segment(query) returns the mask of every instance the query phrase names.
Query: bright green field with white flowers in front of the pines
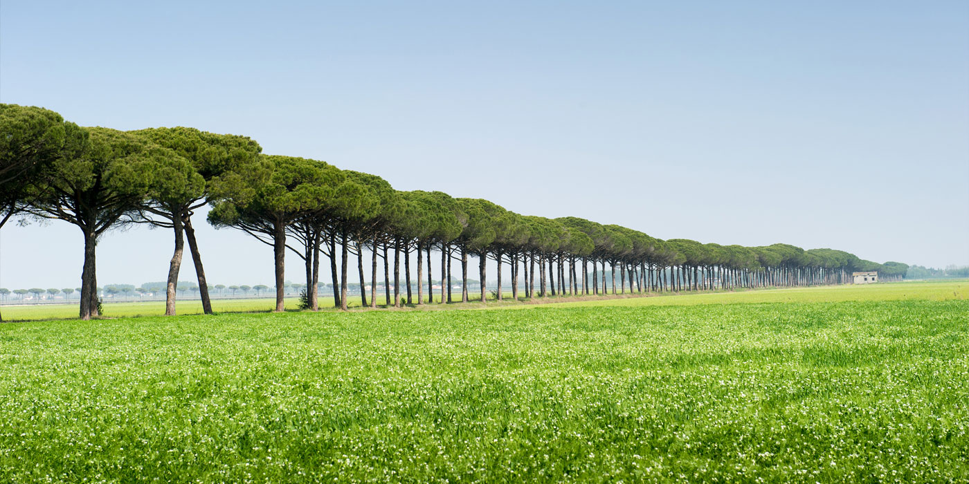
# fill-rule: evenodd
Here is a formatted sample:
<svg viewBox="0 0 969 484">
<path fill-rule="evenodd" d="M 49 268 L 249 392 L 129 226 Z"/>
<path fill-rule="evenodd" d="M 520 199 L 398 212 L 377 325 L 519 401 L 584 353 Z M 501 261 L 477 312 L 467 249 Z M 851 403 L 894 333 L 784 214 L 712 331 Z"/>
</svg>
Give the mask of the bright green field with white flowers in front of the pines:
<svg viewBox="0 0 969 484">
<path fill-rule="evenodd" d="M 969 482 L 964 287 L 2 324 L 0 482 Z"/>
</svg>

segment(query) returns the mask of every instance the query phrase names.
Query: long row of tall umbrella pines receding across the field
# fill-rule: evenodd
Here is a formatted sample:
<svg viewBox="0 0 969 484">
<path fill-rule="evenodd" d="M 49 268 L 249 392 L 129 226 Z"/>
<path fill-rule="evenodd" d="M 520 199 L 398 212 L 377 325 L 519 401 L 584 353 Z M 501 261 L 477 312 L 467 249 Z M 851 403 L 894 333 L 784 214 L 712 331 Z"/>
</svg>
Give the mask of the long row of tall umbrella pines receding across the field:
<svg viewBox="0 0 969 484">
<path fill-rule="evenodd" d="M 44 108 L 0 105 L 0 133 L 0 227 L 18 212 L 78 227 L 84 239 L 79 290 L 79 316 L 84 319 L 98 316 L 97 242 L 110 228 L 125 224 L 172 230 L 166 315 L 175 314 L 186 243 L 203 310 L 210 314 L 192 220 L 205 204 L 211 205 L 208 222 L 213 226 L 241 230 L 272 248 L 276 311 L 284 309 L 288 252 L 304 262 L 312 310 L 319 304 L 322 256 L 328 257 L 330 278 L 337 283 L 333 299 L 342 309 L 348 304 L 351 258 L 356 259 L 361 283 L 377 281 L 383 269 L 384 304 L 394 307 L 435 300 L 433 287 L 422 284 L 433 278 L 434 260 L 439 260 L 439 278 L 447 281 L 442 302 L 469 301 L 471 257 L 478 259 L 482 301 L 489 260 L 497 264 L 498 300 L 505 297 L 504 278 L 511 280 L 511 296 L 517 299 L 615 294 L 627 288 L 647 292 L 843 284 L 857 270 L 875 270 L 882 280 L 893 280 L 907 267 L 788 244 L 742 247 L 660 240 L 576 217 L 520 215 L 480 198 L 400 192 L 376 175 L 265 155 L 248 137 L 192 128 L 82 128 Z M 366 262 L 365 251 L 371 255 Z M 416 290 L 411 284 L 415 279 Z M 452 293 L 453 279 L 461 281 L 460 294 Z M 369 294 L 361 291 L 362 306 L 376 307 L 376 289 L 371 284 Z"/>
</svg>

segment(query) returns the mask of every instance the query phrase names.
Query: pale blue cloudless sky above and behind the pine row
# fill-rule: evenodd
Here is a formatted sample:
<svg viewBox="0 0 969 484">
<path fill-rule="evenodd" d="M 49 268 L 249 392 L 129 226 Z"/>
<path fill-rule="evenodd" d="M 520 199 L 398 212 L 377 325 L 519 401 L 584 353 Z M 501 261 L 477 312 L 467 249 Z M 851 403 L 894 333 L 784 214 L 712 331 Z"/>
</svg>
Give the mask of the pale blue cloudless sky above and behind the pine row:
<svg viewBox="0 0 969 484">
<path fill-rule="evenodd" d="M 662 239 L 969 264 L 961 0 L 4 0 L 0 102 Z M 271 249 L 203 215 L 209 283 L 271 285 Z M 98 282 L 170 257 L 170 231 L 109 232 Z M 78 287 L 81 261 L 67 223 L 0 230 L 0 287 Z"/>
</svg>

